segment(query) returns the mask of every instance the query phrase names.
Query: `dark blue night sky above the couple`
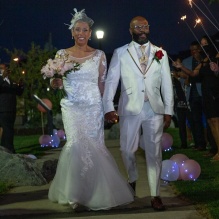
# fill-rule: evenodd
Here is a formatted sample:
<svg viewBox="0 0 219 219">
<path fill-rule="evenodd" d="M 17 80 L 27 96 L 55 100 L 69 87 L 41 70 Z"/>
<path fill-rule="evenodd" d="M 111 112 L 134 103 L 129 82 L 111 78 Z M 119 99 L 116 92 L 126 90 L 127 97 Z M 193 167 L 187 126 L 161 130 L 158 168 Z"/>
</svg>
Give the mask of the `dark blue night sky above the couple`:
<svg viewBox="0 0 219 219">
<path fill-rule="evenodd" d="M 89 41 L 92 47 L 98 48 L 97 29 L 105 32 L 102 49 L 107 54 L 129 43 L 130 20 L 141 15 L 149 21 L 150 41 L 162 46 L 171 56 L 189 48 L 195 40 L 192 32 L 198 39 L 206 35 L 201 25 L 194 28 L 197 19 L 194 11 L 202 19 L 207 34 L 218 32 L 219 3 L 209 5 L 207 0 L 194 0 L 194 3 L 202 12 L 194 5 L 192 10 L 187 0 L 0 0 L 0 59 L 2 62 L 9 59 L 2 48 L 27 51 L 31 42 L 43 47 L 49 34 L 57 49 L 72 46 L 70 30 L 64 23 L 70 23 L 73 8 L 85 9 L 95 22 Z M 192 32 L 180 20 L 183 15 L 187 15 Z"/>
</svg>

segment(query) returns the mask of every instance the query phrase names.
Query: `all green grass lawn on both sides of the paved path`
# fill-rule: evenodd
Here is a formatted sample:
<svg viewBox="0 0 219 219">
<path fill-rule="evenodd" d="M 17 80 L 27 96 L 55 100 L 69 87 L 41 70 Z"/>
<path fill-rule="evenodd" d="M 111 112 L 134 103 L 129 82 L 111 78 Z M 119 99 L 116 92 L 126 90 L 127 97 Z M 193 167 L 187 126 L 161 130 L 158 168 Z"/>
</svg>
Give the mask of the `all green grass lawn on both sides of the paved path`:
<svg viewBox="0 0 219 219">
<path fill-rule="evenodd" d="M 180 149 L 180 140 L 177 128 L 169 128 L 166 132 L 173 136 L 171 151 L 163 152 L 163 160 L 170 159 L 174 154 L 185 154 L 201 166 L 201 174 L 196 181 L 175 181 L 171 185 L 176 193 L 194 203 L 197 209 L 209 219 L 219 218 L 219 162 L 211 162 L 203 156 L 206 152 L 195 151 L 192 148 Z M 40 157 L 45 150 L 39 145 L 39 135 L 15 136 L 17 153 L 34 154 Z M 7 192 L 10 185 L 0 182 L 0 194 Z"/>
</svg>

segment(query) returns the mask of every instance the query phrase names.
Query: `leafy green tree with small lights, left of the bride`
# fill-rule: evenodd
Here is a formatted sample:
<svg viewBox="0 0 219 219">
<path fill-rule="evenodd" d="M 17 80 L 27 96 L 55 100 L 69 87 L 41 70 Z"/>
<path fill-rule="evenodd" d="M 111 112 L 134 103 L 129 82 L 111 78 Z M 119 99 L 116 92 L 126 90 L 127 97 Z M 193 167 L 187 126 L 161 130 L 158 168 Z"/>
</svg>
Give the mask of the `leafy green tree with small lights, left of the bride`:
<svg viewBox="0 0 219 219">
<path fill-rule="evenodd" d="M 23 50 L 14 49 L 6 52 L 11 57 L 10 69 L 11 76 L 14 81 L 23 79 L 25 89 L 22 97 L 18 98 L 18 102 L 23 104 L 21 111 L 18 113 L 23 114 L 26 118 L 28 126 L 40 126 L 40 112 L 37 109 L 37 103 L 33 99 L 36 94 L 39 98 L 47 98 L 53 103 L 53 114 L 60 112 L 60 104 L 54 90 L 49 89 L 49 79 L 44 80 L 40 70 L 46 64 L 49 58 L 54 58 L 56 49 L 41 49 L 40 46 L 31 44 L 30 50 L 25 53 Z M 18 57 L 18 61 L 13 59 Z"/>
</svg>

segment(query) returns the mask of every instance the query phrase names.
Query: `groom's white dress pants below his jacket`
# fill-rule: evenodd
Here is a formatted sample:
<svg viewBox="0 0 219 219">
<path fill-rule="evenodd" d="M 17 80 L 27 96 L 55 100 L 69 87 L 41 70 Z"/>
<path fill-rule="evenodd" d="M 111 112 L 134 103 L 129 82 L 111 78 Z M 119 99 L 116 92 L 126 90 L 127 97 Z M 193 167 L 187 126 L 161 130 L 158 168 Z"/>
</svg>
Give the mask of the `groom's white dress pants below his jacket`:
<svg viewBox="0 0 219 219">
<path fill-rule="evenodd" d="M 151 196 L 160 195 L 160 174 L 162 165 L 161 137 L 163 134 L 163 115 L 156 114 L 149 101 L 144 102 L 140 114 L 120 116 L 120 149 L 128 173 L 129 182 L 138 179 L 135 152 L 139 146 L 141 128 L 143 131 L 148 183 Z"/>
</svg>

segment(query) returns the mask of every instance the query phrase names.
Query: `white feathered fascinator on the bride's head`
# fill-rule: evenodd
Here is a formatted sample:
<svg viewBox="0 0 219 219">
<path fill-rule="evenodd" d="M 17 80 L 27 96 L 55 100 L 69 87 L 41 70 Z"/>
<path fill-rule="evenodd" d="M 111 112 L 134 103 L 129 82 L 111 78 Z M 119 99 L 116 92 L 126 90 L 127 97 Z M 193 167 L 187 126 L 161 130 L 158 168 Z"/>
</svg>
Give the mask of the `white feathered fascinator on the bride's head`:
<svg viewBox="0 0 219 219">
<path fill-rule="evenodd" d="M 92 27 L 94 21 L 85 14 L 85 9 L 78 12 L 77 9 L 74 8 L 74 12 L 75 14 L 71 14 L 73 16 L 71 19 L 71 24 L 66 24 L 69 26 L 68 29 L 71 30 L 78 21 L 86 22 L 90 28 Z"/>
</svg>

